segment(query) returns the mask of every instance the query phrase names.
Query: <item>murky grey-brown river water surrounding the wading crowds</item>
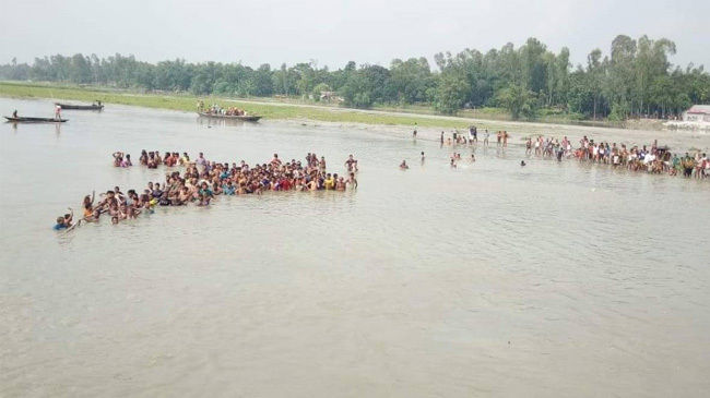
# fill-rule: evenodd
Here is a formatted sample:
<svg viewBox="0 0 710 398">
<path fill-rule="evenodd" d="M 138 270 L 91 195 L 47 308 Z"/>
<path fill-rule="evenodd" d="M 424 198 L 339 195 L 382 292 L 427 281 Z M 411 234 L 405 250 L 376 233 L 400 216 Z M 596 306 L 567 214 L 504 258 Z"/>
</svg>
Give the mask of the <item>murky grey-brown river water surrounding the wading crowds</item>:
<svg viewBox="0 0 710 398">
<path fill-rule="evenodd" d="M 52 113 L 47 100 L 0 109 Z M 63 116 L 0 125 L 0 397 L 710 390 L 707 181 L 534 158 L 521 168 L 519 140 L 451 169 L 435 140 L 377 128 L 209 125 L 111 105 Z M 594 132 L 710 146 L 583 131 Z M 115 150 L 142 148 L 251 164 L 316 152 L 334 172 L 354 154 L 359 188 L 51 230 L 92 190 L 163 181 L 164 169 L 111 167 Z"/>
</svg>

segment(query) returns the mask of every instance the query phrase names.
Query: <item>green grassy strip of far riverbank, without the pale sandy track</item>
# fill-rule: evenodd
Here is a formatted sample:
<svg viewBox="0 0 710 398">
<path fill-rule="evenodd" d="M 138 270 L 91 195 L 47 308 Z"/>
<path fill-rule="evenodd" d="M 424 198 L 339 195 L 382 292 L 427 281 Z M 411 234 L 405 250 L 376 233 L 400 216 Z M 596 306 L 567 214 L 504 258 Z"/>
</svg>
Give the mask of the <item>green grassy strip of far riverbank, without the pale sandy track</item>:
<svg viewBox="0 0 710 398">
<path fill-rule="evenodd" d="M 465 129 L 471 121 L 465 119 L 433 118 L 430 116 L 393 114 L 377 111 L 357 111 L 334 107 L 319 107 L 296 104 L 277 104 L 258 100 L 234 100 L 220 97 L 196 97 L 191 95 L 138 94 L 98 87 L 68 87 L 34 83 L 0 83 L 0 96 L 14 98 L 48 98 L 91 102 L 95 99 L 110 104 L 146 108 L 194 111 L 198 99 L 204 104 L 218 102 L 224 107 L 247 109 L 265 119 L 308 119 L 327 122 L 365 123 L 384 125 L 417 125 L 423 128 Z M 22 112 L 22 110 L 20 110 Z"/>
</svg>

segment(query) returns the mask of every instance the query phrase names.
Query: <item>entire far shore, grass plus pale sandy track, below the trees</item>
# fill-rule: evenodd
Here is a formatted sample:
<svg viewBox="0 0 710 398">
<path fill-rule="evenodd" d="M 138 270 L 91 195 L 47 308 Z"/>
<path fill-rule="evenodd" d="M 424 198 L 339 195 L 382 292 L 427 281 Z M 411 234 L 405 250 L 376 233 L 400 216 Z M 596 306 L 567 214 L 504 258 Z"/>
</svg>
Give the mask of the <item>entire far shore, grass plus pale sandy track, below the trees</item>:
<svg viewBox="0 0 710 398">
<path fill-rule="evenodd" d="M 413 130 L 426 129 L 468 129 L 476 125 L 478 129 L 497 130 L 539 130 L 543 126 L 575 128 L 575 129 L 628 129 L 628 130 L 660 130 L 662 120 L 629 121 L 626 123 L 612 122 L 577 122 L 565 123 L 559 121 L 507 121 L 489 120 L 471 117 L 451 117 L 416 111 L 401 111 L 392 108 L 383 109 L 352 109 L 316 104 L 298 104 L 288 100 L 273 99 L 235 99 L 215 96 L 193 96 L 182 94 L 142 94 L 127 91 L 111 89 L 110 87 L 79 87 L 50 83 L 32 82 L 0 82 L 0 96 L 10 98 L 37 98 L 49 100 L 76 100 L 92 102 L 102 100 L 108 109 L 111 104 L 137 106 L 155 109 L 169 109 L 180 111 L 197 111 L 197 101 L 203 100 L 205 105 L 217 102 L 224 107 L 238 107 L 246 109 L 251 114 L 260 114 L 265 120 L 308 120 L 330 123 L 357 123 L 370 125 L 402 126 Z M 11 110 L 3 110 L 5 112 Z"/>
</svg>

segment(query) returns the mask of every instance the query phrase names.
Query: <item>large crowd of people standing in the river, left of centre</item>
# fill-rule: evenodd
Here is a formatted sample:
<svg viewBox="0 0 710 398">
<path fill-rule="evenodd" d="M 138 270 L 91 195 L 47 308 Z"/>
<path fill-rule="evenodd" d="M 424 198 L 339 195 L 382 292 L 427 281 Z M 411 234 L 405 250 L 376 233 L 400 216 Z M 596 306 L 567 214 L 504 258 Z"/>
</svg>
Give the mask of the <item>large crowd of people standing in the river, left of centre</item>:
<svg viewBox="0 0 710 398">
<path fill-rule="evenodd" d="M 114 153 L 114 166 L 123 166 L 130 161 L 130 155 Z M 118 164 L 118 166 L 117 166 Z M 265 191 L 340 191 L 357 189 L 357 160 L 350 155 L 345 160 L 347 176 L 330 173 L 326 170 L 326 158 L 315 153 L 306 155 L 306 161 L 282 161 L 279 154 L 263 164 L 253 167 L 241 160 L 239 164 L 209 161 L 200 153 L 191 161 L 187 153 L 179 156 L 177 152 L 166 152 L 161 158 L 159 152 L 141 152 L 140 165 L 146 168 L 182 166 L 182 171 L 166 173 L 164 182 L 149 182 L 142 190 L 128 190 L 123 193 L 119 186 L 106 191 L 95 201 L 95 195 L 86 195 L 82 203 L 83 217 L 75 225 L 73 213 L 58 217 L 56 230 L 71 229 L 82 221 L 94 222 L 104 215 L 113 224 L 133 219 L 141 213 L 153 213 L 155 206 L 208 206 L 218 196 L 260 195 Z M 61 220 L 59 219 L 61 218 Z"/>
</svg>

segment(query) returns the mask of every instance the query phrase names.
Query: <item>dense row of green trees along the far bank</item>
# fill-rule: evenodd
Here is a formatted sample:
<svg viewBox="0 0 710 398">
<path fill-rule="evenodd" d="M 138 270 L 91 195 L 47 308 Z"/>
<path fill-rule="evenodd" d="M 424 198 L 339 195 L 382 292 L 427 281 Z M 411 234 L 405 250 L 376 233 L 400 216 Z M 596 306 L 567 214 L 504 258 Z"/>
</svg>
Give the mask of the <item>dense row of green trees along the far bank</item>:
<svg viewBox="0 0 710 398">
<path fill-rule="evenodd" d="M 665 118 L 693 104 L 710 101 L 710 75 L 703 68 L 673 68 L 676 51 L 667 39 L 647 36 L 635 40 L 617 36 L 611 52 L 592 50 L 585 65 L 573 68 L 569 50 L 553 53 L 535 38 L 520 48 L 512 44 L 486 53 L 465 49 L 454 56 L 437 53 L 438 70 L 426 58 L 402 61 L 390 68 L 356 65 L 330 71 L 315 61 L 257 69 L 235 63 L 186 63 L 184 60 L 151 64 L 133 56 L 98 59 L 60 55 L 36 58 L 32 65 L 0 65 L 0 79 L 102 84 L 119 88 L 190 92 L 222 96 L 301 96 L 320 100 L 334 92 L 348 107 L 424 104 L 454 114 L 462 108 L 501 107 L 512 118 L 534 118 L 541 112 L 570 118 Z M 328 97 L 329 98 L 329 97 Z"/>
</svg>

